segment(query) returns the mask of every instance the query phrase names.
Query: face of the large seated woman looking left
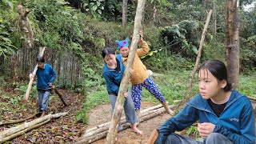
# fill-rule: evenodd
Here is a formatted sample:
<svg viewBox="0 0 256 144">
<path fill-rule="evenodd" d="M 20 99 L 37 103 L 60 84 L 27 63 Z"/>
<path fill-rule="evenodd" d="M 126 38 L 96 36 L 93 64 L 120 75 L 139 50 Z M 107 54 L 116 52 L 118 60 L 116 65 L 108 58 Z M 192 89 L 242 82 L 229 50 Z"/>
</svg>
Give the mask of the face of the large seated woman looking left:
<svg viewBox="0 0 256 144">
<path fill-rule="evenodd" d="M 202 98 L 218 97 L 219 92 L 226 86 L 226 81 L 218 81 L 209 70 L 199 70 L 198 87 Z"/>
</svg>

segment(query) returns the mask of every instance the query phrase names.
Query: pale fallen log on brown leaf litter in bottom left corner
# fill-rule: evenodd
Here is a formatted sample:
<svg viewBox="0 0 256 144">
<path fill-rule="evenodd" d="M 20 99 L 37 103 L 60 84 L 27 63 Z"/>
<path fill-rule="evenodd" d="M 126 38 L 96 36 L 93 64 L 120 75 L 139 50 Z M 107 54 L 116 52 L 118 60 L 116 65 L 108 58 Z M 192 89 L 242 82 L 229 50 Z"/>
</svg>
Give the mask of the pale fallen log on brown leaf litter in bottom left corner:
<svg viewBox="0 0 256 144">
<path fill-rule="evenodd" d="M 37 118 L 31 122 L 25 122 L 22 125 L 14 126 L 10 129 L 4 130 L 4 131 L 0 132 L 0 141 L 2 141 L 2 139 L 6 138 L 6 137 L 13 138 L 14 137 L 13 135 L 15 135 L 16 133 L 19 133 L 22 130 L 25 130 L 25 131 L 26 131 L 26 129 L 30 130 L 30 127 L 33 127 L 34 125 L 38 125 L 39 123 L 45 122 L 51 118 L 58 118 L 58 117 L 66 115 L 66 114 L 67 113 L 47 114 L 46 116 L 44 116 L 42 118 Z"/>
</svg>

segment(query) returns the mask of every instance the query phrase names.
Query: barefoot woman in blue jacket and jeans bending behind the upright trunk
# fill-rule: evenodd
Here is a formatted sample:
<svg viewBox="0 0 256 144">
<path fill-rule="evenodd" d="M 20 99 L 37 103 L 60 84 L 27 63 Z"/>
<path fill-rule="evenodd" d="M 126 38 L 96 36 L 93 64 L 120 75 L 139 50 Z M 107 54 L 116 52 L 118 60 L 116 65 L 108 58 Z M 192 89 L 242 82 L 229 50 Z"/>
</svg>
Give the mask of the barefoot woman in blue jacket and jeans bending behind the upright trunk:
<svg viewBox="0 0 256 144">
<path fill-rule="evenodd" d="M 122 81 L 122 74 L 125 70 L 125 66 L 122 63 L 122 55 L 115 54 L 113 48 L 107 47 L 102 50 L 102 58 L 104 59 L 104 66 L 102 75 L 106 80 L 106 90 L 109 94 L 110 103 L 112 106 L 112 113 L 114 112 L 114 105 L 118 98 L 119 86 Z M 138 130 L 136 122 L 138 118 L 134 109 L 134 103 L 131 95 L 128 92 L 125 94 L 126 100 L 124 102 L 124 110 L 126 113 L 126 122 L 131 123 L 131 129 L 137 134 L 143 134 L 141 130 Z M 118 127 L 122 130 L 122 127 Z"/>
</svg>

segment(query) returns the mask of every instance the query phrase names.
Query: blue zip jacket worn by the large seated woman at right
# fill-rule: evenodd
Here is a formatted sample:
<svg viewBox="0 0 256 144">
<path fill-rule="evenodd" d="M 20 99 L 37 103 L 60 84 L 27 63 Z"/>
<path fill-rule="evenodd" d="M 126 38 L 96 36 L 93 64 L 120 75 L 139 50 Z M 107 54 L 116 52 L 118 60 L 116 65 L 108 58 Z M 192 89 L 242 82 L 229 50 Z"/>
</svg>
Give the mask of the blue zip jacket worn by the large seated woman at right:
<svg viewBox="0 0 256 144">
<path fill-rule="evenodd" d="M 206 99 L 197 94 L 187 105 L 174 117 L 170 118 L 158 128 L 158 139 L 155 143 L 166 141 L 169 134 L 175 130 L 184 130 L 199 120 L 211 122 L 215 125 L 214 133 L 219 133 L 234 144 L 252 144 L 255 142 L 254 110 L 249 98 L 232 90 L 230 99 L 222 114 L 217 117 L 210 108 Z"/>
</svg>

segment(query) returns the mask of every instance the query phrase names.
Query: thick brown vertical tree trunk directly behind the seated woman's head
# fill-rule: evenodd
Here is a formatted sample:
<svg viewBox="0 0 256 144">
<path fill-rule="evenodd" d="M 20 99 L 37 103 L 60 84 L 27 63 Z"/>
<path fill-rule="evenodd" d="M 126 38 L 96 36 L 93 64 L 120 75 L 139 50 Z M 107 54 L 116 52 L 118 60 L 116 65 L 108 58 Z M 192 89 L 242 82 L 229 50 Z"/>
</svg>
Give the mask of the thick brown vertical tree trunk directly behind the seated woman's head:
<svg viewBox="0 0 256 144">
<path fill-rule="evenodd" d="M 239 82 L 239 1 L 226 0 L 226 54 L 228 81 L 232 89 L 238 88 Z"/>
</svg>

